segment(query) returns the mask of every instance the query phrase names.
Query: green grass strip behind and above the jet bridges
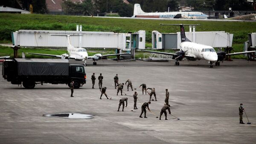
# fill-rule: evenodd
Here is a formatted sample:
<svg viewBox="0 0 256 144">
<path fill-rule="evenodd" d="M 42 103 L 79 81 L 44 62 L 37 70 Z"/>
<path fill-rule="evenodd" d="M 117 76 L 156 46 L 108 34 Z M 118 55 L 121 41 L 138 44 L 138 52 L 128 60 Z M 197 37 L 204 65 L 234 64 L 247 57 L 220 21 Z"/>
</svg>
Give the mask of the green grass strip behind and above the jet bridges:
<svg viewBox="0 0 256 144">
<path fill-rule="evenodd" d="M 65 30 L 76 31 L 76 25 L 82 25 L 83 31 L 113 31 L 135 32 L 146 31 L 146 41 L 151 42 L 151 31 L 161 33 L 176 33 L 178 26 L 163 26 L 169 24 L 200 24 L 196 31 L 226 31 L 234 34 L 233 43 L 242 44 L 247 41 L 247 34 L 256 31 L 252 22 L 227 21 L 181 21 L 181 20 L 139 20 L 102 17 L 81 17 L 46 14 L 0 14 L 0 41 L 11 41 L 11 31 L 28 30 Z M 185 27 L 189 31 L 189 27 Z"/>
</svg>

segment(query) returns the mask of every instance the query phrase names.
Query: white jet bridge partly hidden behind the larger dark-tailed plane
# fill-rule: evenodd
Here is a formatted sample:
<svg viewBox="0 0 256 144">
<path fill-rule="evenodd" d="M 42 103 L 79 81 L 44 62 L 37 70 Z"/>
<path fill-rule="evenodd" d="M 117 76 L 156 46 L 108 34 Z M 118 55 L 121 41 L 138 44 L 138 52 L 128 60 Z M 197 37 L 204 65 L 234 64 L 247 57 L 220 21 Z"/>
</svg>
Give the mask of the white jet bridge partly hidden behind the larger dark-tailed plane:
<svg viewBox="0 0 256 144">
<path fill-rule="evenodd" d="M 225 31 L 190 31 L 185 34 L 190 41 L 209 45 L 213 48 L 232 47 L 233 34 Z M 152 48 L 179 49 L 180 43 L 180 32 L 163 34 L 158 31 L 152 31 Z"/>
</svg>

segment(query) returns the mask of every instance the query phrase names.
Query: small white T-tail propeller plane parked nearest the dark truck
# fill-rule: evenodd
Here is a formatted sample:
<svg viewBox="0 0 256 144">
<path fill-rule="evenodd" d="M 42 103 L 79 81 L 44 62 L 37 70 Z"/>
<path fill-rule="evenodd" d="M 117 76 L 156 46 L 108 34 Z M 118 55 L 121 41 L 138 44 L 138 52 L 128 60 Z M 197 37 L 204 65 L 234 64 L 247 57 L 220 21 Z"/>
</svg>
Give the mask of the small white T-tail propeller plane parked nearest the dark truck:
<svg viewBox="0 0 256 144">
<path fill-rule="evenodd" d="M 55 57 L 60 57 L 61 59 L 76 59 L 76 60 L 82 60 L 84 61 L 84 65 L 86 66 L 86 60 L 87 59 L 93 59 L 93 65 L 97 65 L 97 62 L 102 57 L 107 57 L 107 56 L 117 56 L 117 55 L 122 55 L 122 54 L 131 54 L 131 53 L 122 53 L 122 54 L 95 54 L 93 56 L 88 56 L 88 53 L 85 48 L 76 48 L 70 43 L 70 37 L 71 36 L 83 36 L 83 35 L 50 35 L 50 36 L 65 36 L 67 37 L 67 54 L 62 54 L 62 55 L 53 55 L 53 54 L 37 54 L 37 53 L 26 53 L 26 54 L 36 54 L 36 55 L 43 55 L 43 56 L 55 56 Z"/>
</svg>

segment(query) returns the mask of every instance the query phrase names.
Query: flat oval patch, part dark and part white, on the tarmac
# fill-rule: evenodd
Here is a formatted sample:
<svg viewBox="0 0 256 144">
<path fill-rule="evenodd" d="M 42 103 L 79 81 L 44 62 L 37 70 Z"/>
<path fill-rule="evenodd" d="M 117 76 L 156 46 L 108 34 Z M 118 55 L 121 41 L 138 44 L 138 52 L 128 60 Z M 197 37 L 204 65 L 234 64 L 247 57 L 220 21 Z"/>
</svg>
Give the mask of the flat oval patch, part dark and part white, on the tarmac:
<svg viewBox="0 0 256 144">
<path fill-rule="evenodd" d="M 84 113 L 52 113 L 44 114 L 43 116 L 65 119 L 92 119 L 93 115 L 87 115 Z"/>
</svg>

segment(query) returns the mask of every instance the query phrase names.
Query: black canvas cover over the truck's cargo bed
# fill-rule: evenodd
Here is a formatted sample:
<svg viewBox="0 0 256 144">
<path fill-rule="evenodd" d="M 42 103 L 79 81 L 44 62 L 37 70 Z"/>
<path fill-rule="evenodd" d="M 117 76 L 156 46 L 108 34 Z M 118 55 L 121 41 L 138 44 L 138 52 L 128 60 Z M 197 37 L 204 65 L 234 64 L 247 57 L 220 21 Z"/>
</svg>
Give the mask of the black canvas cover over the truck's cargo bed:
<svg viewBox="0 0 256 144">
<path fill-rule="evenodd" d="M 15 59 L 18 75 L 68 76 L 67 59 Z"/>
</svg>

